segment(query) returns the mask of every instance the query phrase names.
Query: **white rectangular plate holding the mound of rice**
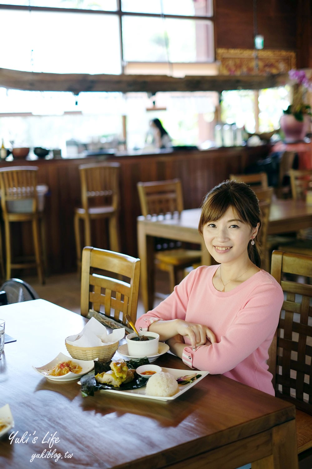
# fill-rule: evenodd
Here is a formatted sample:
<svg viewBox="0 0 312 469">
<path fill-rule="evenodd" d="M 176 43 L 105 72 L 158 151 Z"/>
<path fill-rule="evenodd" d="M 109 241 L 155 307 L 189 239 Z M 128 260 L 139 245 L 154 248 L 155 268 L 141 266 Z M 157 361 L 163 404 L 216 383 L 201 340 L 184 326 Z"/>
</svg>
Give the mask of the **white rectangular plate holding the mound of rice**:
<svg viewBox="0 0 312 469">
<path fill-rule="evenodd" d="M 102 393 L 117 393 L 122 394 L 124 396 L 135 396 L 135 397 L 142 397 L 144 399 L 154 399 L 157 401 L 173 401 L 177 397 L 181 396 L 181 394 L 185 393 L 189 390 L 189 388 L 195 386 L 201 379 L 203 379 L 206 375 L 209 374 L 209 371 L 196 371 L 196 370 L 177 370 L 176 368 L 165 368 L 164 366 L 161 367 L 162 371 L 165 373 L 170 373 L 175 379 L 180 378 L 181 376 L 193 375 L 197 373 L 201 375 L 200 378 L 195 379 L 192 383 L 188 384 L 179 384 L 179 390 L 176 394 L 170 397 L 160 397 L 160 396 L 150 396 L 149 394 L 145 394 L 146 386 L 140 387 L 138 389 L 129 389 L 128 391 L 118 391 L 117 389 L 100 389 Z"/>
</svg>

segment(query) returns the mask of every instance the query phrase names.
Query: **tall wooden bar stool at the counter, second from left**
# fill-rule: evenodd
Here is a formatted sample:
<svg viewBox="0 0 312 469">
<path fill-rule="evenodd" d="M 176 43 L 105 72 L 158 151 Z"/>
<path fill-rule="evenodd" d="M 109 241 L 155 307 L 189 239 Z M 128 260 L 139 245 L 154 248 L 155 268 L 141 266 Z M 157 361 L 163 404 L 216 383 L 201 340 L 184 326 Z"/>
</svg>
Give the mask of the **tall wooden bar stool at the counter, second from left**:
<svg viewBox="0 0 312 469">
<path fill-rule="evenodd" d="M 119 163 L 80 165 L 82 207 L 75 209 L 74 229 L 78 272 L 82 246 L 91 245 L 91 220 L 106 219 L 109 225 L 109 247 L 119 252 Z M 84 244 L 80 238 L 80 220 L 84 224 Z"/>
</svg>

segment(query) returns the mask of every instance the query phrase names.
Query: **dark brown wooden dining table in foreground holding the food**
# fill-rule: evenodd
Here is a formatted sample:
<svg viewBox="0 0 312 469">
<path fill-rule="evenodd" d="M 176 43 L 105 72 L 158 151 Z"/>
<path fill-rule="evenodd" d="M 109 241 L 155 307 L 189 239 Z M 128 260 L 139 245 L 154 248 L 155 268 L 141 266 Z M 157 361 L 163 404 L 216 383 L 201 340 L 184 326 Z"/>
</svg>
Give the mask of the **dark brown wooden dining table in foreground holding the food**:
<svg viewBox="0 0 312 469">
<path fill-rule="evenodd" d="M 0 355 L 0 407 L 15 421 L 0 439 L 1 468 L 297 469 L 289 402 L 210 374 L 172 401 L 82 397 L 78 379 L 51 381 L 32 365 L 68 355 L 65 337 L 86 318 L 42 299 L 1 306 L 0 318 L 16 339 Z M 170 353 L 154 363 L 187 368 Z"/>
</svg>

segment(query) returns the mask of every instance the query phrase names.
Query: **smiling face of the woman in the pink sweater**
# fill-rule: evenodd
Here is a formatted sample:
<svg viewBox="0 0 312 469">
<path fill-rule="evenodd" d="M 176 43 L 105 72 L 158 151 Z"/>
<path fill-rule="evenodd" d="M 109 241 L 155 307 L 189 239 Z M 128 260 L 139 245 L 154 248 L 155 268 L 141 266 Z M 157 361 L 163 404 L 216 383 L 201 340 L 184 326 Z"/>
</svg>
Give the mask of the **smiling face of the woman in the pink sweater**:
<svg viewBox="0 0 312 469">
<path fill-rule="evenodd" d="M 244 259 L 248 242 L 258 232 L 239 219 L 232 207 L 218 220 L 210 220 L 203 227 L 203 239 L 210 255 L 219 263 Z"/>
</svg>

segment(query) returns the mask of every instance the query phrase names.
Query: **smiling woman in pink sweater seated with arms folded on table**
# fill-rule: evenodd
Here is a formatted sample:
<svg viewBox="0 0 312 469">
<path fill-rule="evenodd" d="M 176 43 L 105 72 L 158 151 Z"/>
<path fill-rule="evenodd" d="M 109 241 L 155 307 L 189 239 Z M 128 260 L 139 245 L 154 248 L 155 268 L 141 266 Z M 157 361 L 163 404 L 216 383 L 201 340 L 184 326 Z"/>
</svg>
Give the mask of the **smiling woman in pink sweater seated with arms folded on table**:
<svg viewBox="0 0 312 469">
<path fill-rule="evenodd" d="M 274 395 L 266 361 L 283 291 L 260 268 L 260 227 L 258 199 L 249 186 L 225 181 L 211 189 L 198 230 L 218 265 L 190 272 L 136 326 L 159 333 L 189 367 Z"/>
</svg>

